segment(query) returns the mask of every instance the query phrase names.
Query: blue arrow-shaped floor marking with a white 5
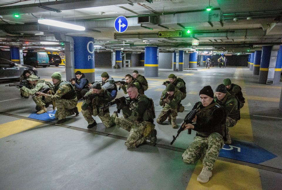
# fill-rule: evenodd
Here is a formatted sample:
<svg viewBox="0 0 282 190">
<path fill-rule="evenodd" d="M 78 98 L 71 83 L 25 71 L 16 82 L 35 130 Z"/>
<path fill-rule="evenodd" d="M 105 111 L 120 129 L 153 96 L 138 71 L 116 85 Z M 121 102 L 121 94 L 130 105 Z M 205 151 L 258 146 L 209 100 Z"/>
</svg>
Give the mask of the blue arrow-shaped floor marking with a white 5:
<svg viewBox="0 0 282 190">
<path fill-rule="evenodd" d="M 254 143 L 237 140 L 232 140 L 230 145 L 224 144 L 219 156 L 252 164 L 260 164 L 277 157 Z"/>
</svg>

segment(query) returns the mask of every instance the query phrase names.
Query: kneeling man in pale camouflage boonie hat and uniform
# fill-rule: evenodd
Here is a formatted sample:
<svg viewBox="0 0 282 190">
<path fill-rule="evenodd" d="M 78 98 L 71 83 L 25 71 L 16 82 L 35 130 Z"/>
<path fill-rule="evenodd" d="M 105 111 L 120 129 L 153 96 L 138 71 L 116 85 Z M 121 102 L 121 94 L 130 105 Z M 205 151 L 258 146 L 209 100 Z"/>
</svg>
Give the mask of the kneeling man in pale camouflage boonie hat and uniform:
<svg viewBox="0 0 282 190">
<path fill-rule="evenodd" d="M 35 93 L 37 93 L 39 90 L 41 90 L 42 88 L 50 88 L 50 85 L 47 85 L 44 80 L 40 80 L 38 79 L 38 77 L 36 75 L 30 75 L 29 78 L 27 78 L 26 80 L 29 81 L 29 83 L 32 85 L 33 88 L 29 89 L 26 88 L 25 86 L 21 87 L 21 90 L 24 91 L 25 93 L 27 93 L 28 95 L 33 95 Z M 50 104 L 52 104 L 52 102 L 46 102 L 46 100 L 42 100 L 42 96 L 38 97 L 38 96 L 34 96 L 32 97 L 33 101 L 36 104 L 36 107 L 39 107 L 41 110 L 39 110 L 37 112 L 37 114 L 42 114 L 47 112 L 46 107 L 48 107 Z"/>
</svg>

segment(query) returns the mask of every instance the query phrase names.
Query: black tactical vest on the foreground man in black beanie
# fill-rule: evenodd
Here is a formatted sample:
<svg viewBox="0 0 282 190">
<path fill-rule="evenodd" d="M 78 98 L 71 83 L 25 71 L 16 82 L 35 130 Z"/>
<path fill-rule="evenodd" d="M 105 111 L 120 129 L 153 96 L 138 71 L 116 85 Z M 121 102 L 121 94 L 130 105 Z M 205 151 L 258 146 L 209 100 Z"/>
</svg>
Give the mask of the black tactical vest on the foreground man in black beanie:
<svg viewBox="0 0 282 190">
<path fill-rule="evenodd" d="M 197 124 L 199 125 L 207 125 L 209 120 L 212 119 L 213 112 L 220 108 L 221 106 L 218 103 L 212 103 L 214 104 L 212 107 L 208 108 L 205 110 L 205 107 L 202 108 L 203 110 L 200 110 L 199 112 L 196 113 L 197 115 Z M 197 107 L 200 107 L 202 105 L 202 102 L 199 102 Z M 208 107 L 208 106 L 207 106 Z M 225 117 L 225 115 L 221 116 L 219 115 L 218 117 Z M 222 135 L 222 137 L 225 137 L 226 134 L 226 129 L 225 129 L 225 124 L 218 124 L 214 126 L 210 131 L 207 132 L 197 132 L 196 136 L 200 137 L 208 137 L 209 134 L 217 132 Z"/>
</svg>

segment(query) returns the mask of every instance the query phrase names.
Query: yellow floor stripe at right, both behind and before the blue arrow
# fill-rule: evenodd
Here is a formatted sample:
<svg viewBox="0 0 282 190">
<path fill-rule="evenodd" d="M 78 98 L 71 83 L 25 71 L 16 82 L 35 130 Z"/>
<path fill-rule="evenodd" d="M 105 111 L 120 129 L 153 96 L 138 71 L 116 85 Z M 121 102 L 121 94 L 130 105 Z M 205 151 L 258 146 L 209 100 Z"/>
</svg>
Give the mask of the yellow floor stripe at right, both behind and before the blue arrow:
<svg viewBox="0 0 282 190">
<path fill-rule="evenodd" d="M 234 77 L 243 77 L 242 68 L 237 68 Z M 246 92 L 244 80 L 231 79 L 231 82 L 241 86 L 242 91 Z M 243 94 L 245 97 L 246 95 Z M 246 97 L 245 97 L 246 98 Z M 244 106 L 241 108 L 241 119 L 234 127 L 230 128 L 231 139 L 253 141 L 253 131 L 249 113 L 248 100 L 246 98 Z M 261 190 L 261 179 L 259 170 L 249 166 L 234 164 L 221 160 L 216 160 L 212 177 L 206 184 L 197 181 L 198 175 L 203 168 L 202 161 L 198 161 L 193 174 L 189 180 L 186 190 L 234 190 L 234 189 L 254 189 Z M 230 180 L 232 179 L 232 180 Z"/>
</svg>

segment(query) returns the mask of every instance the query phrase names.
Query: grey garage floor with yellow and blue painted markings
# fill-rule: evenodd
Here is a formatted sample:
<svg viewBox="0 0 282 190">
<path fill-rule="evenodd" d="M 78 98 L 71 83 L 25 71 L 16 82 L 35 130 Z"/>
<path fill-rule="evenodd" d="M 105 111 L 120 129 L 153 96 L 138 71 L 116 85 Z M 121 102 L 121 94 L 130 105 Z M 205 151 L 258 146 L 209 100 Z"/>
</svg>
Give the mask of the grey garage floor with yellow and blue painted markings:
<svg viewBox="0 0 282 190">
<path fill-rule="evenodd" d="M 55 71 L 66 77 L 63 66 L 37 69 L 41 79 L 51 81 Z M 144 74 L 143 67 L 95 68 L 95 79 L 99 81 L 106 71 L 120 80 L 133 70 Z M 61 126 L 53 125 L 56 120 L 50 115 L 48 121 L 29 118 L 35 113 L 32 99 L 21 98 L 17 88 L 4 86 L 14 81 L 1 81 L 0 189 L 282 189 L 281 83 L 259 84 L 258 76 L 246 67 L 199 67 L 182 72 L 159 69 L 158 77 L 146 77 L 149 89 L 145 92 L 155 102 L 156 116 L 165 89 L 162 83 L 170 73 L 183 78 L 187 87 L 187 97 L 182 100 L 185 111 L 178 114 L 178 125 L 199 101 L 199 90 L 206 85 L 215 90 L 223 79 L 230 78 L 242 87 L 246 98 L 241 120 L 231 128 L 234 149 L 224 145 L 207 184 L 197 182 L 201 162 L 182 162 L 182 152 L 193 141 L 194 131 L 191 135 L 182 132 L 170 145 L 177 129 L 167 121 L 164 125 L 155 122 L 155 146 L 145 143 L 127 149 L 124 142 L 128 132 L 116 126 L 106 129 L 98 117 L 98 125 L 89 130 L 81 113 L 70 116 Z M 119 91 L 117 97 L 121 96 L 126 95 Z M 110 113 L 114 110 L 115 106 L 110 107 Z M 231 148 L 241 152 L 228 151 Z M 263 161 L 256 163 L 259 159 Z"/>
</svg>

